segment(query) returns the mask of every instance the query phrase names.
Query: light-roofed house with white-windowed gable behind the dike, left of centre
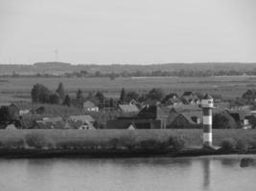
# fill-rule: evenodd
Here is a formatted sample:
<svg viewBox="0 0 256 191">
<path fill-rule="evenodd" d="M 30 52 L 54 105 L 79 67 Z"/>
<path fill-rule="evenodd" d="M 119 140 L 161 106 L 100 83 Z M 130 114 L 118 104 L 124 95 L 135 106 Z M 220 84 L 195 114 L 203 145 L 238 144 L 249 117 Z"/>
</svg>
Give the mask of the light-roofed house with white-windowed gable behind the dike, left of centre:
<svg viewBox="0 0 256 191">
<path fill-rule="evenodd" d="M 94 123 L 95 119 L 90 115 L 71 116 L 67 118 L 65 127 L 73 129 L 95 129 Z"/>
</svg>

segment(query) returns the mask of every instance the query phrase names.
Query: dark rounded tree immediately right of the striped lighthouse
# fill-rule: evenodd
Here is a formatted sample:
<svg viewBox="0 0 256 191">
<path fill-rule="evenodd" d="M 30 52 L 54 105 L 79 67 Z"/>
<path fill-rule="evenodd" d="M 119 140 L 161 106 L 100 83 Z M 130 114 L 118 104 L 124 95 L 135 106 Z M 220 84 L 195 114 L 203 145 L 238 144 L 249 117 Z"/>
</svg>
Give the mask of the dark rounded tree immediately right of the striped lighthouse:
<svg viewBox="0 0 256 191">
<path fill-rule="evenodd" d="M 237 123 L 233 117 L 227 113 L 215 114 L 213 117 L 213 128 L 214 129 L 235 129 Z"/>
</svg>

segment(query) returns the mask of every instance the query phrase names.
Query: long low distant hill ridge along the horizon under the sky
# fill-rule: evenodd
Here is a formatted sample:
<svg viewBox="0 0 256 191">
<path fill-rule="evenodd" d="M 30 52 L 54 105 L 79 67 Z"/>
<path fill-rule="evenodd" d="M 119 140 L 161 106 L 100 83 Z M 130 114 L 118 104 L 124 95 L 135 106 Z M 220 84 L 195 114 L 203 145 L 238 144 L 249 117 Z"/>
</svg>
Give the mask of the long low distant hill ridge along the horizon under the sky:
<svg viewBox="0 0 256 191">
<path fill-rule="evenodd" d="M 256 71 L 256 63 L 165 63 L 151 65 L 72 65 L 65 62 L 36 62 L 34 65 L 0 65 L 0 74 L 64 74 L 86 71 L 88 73 L 135 73 L 137 71 Z"/>
</svg>

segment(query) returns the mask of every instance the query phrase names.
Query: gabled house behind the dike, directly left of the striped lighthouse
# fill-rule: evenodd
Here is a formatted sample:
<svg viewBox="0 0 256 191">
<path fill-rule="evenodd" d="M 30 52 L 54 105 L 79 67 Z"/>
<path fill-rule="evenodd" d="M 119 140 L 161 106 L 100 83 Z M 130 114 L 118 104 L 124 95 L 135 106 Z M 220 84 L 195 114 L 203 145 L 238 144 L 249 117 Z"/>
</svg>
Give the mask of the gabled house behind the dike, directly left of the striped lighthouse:
<svg viewBox="0 0 256 191">
<path fill-rule="evenodd" d="M 187 112 L 176 114 L 176 117 L 167 125 L 171 129 L 198 129 L 201 128 L 202 112 Z"/>
</svg>

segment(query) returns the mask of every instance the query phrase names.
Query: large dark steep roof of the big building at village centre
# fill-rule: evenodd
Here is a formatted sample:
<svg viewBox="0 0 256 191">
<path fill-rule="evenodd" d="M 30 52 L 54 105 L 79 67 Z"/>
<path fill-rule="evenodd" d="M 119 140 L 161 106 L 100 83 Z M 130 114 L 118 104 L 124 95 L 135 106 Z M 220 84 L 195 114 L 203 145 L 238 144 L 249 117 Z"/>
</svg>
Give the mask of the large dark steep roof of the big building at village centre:
<svg viewBox="0 0 256 191">
<path fill-rule="evenodd" d="M 137 117 L 141 118 L 167 118 L 169 116 L 169 107 L 160 107 L 151 105 L 144 107 Z"/>
</svg>

